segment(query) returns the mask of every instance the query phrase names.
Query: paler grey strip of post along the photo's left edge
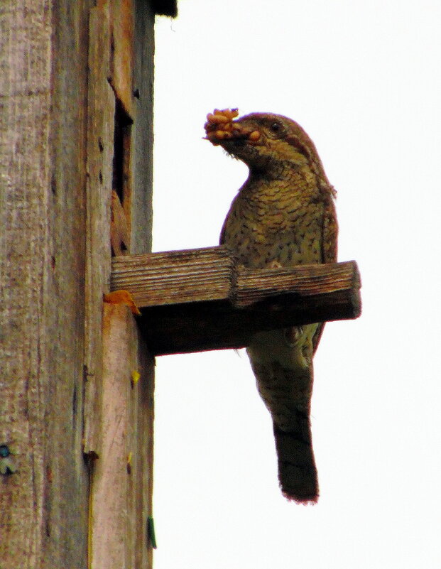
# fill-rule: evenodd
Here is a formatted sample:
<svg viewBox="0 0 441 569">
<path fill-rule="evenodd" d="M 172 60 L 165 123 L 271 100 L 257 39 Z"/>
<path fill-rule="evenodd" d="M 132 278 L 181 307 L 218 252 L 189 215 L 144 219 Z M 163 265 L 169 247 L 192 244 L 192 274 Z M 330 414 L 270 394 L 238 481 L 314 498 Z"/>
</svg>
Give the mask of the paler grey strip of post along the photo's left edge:
<svg viewBox="0 0 441 569">
<path fill-rule="evenodd" d="M 28 21 L 18 1 L 0 11 L 5 42 L 0 82 L 0 444 L 17 453 L 18 466 L 15 474 L 0 480 L 0 559 L 5 567 L 38 567 L 43 549 L 49 362 L 40 335 L 50 324 L 44 315 L 48 298 L 41 291 L 51 252 L 51 62 L 43 54 L 50 53 L 50 17 L 48 11 L 45 18 L 38 1 Z M 39 28 L 30 25 L 34 19 Z M 34 67 L 25 59 L 31 41 Z M 32 97 L 26 94 L 33 90 Z"/>
</svg>

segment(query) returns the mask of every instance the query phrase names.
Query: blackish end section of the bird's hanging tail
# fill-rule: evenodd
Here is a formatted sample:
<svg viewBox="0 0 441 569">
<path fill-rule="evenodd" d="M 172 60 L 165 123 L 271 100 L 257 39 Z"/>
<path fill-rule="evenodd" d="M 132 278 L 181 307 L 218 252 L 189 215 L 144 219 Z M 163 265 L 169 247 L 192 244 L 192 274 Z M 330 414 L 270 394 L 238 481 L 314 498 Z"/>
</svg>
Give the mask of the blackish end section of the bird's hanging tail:
<svg viewBox="0 0 441 569">
<path fill-rule="evenodd" d="M 273 423 L 278 479 L 283 495 L 301 504 L 315 504 L 319 497 L 317 468 L 311 443 L 309 417 L 298 413 L 298 429 L 283 431 Z"/>
</svg>

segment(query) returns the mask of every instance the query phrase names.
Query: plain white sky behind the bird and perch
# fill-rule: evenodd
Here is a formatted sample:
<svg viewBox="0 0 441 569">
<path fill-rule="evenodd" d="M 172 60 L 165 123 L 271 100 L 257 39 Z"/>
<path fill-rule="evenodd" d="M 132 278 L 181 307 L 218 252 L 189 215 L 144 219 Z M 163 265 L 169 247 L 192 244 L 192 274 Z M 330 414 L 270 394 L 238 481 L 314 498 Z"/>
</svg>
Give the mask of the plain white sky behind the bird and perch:
<svg viewBox="0 0 441 569">
<path fill-rule="evenodd" d="M 337 189 L 359 320 L 315 357 L 321 496 L 278 489 L 246 354 L 157 359 L 156 569 L 441 566 L 439 0 L 180 0 L 156 25 L 155 251 L 212 246 L 246 167 L 214 107 L 310 134 Z"/>
</svg>

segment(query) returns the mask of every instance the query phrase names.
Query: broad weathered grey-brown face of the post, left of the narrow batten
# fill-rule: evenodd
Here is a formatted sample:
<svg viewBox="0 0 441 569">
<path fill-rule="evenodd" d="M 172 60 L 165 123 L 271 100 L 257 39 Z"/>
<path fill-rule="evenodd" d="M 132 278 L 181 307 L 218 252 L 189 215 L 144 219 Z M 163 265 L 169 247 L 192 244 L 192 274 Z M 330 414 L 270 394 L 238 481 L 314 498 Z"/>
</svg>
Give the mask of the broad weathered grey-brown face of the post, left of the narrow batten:
<svg viewBox="0 0 441 569">
<path fill-rule="evenodd" d="M 0 9 L 0 565 L 87 566 L 82 456 L 87 14 Z"/>
</svg>

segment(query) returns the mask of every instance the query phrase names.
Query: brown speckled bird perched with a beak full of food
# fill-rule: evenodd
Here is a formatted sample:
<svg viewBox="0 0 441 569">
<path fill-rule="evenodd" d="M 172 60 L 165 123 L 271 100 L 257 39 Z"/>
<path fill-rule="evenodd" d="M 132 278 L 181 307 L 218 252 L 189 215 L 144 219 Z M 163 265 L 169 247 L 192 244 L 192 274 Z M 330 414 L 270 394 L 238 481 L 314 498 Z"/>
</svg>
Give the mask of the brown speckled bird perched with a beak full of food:
<svg viewBox="0 0 441 569">
<path fill-rule="evenodd" d="M 244 162 L 249 175 L 224 221 L 220 244 L 246 269 L 337 261 L 336 192 L 314 143 L 286 116 L 237 109 L 207 114 L 206 139 Z M 312 449 L 312 357 L 324 323 L 257 332 L 246 352 L 273 420 L 278 480 L 288 500 L 319 497 Z"/>
</svg>

